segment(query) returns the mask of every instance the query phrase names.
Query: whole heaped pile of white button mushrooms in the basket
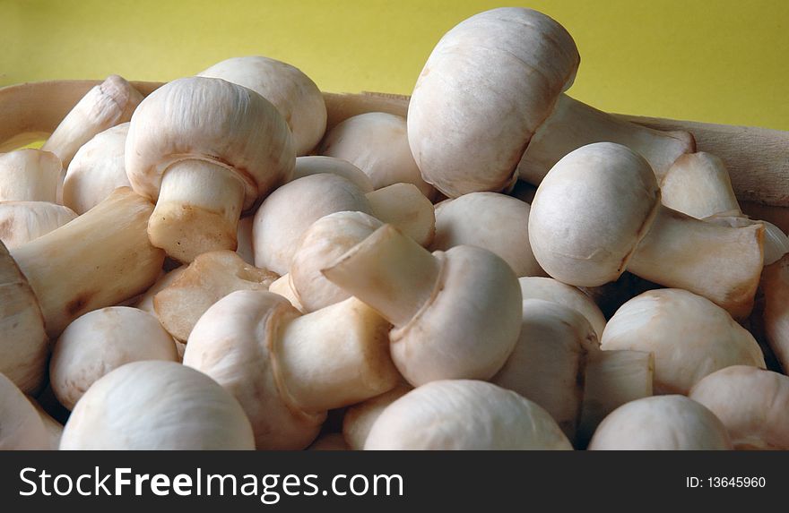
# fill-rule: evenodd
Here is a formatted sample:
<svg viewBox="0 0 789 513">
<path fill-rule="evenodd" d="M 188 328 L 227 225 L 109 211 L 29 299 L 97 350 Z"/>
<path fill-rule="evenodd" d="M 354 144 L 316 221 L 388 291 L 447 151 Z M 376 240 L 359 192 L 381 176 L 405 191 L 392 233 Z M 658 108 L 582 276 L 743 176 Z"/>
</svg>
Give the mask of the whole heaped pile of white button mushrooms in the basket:
<svg viewBox="0 0 789 513">
<path fill-rule="evenodd" d="M 0 449 L 789 449 L 786 225 L 579 62 L 499 8 L 399 110 L 247 56 L 10 134 Z"/>
</svg>

